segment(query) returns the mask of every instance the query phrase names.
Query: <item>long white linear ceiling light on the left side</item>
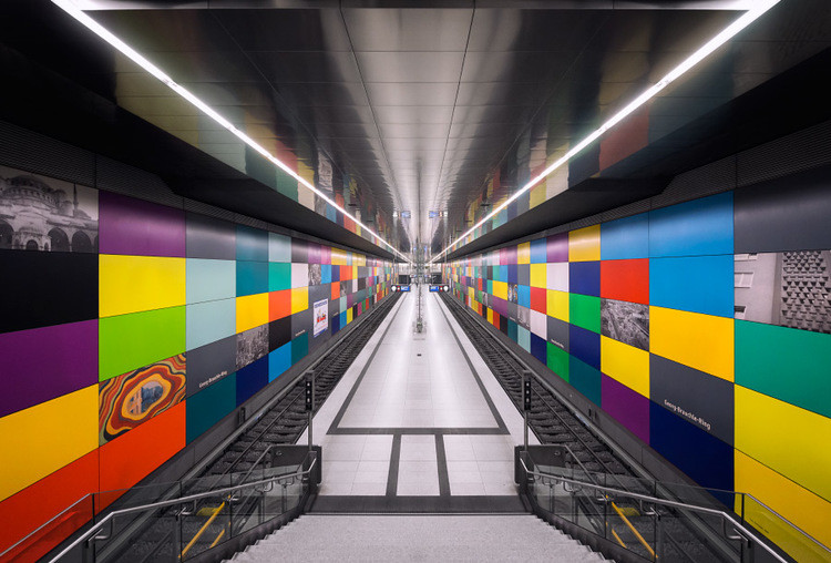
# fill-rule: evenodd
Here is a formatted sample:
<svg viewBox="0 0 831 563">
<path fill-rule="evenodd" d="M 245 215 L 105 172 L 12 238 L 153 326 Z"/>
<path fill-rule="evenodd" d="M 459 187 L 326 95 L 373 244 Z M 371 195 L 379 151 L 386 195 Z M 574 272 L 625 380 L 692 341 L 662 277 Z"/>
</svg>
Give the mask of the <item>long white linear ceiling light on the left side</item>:
<svg viewBox="0 0 831 563">
<path fill-rule="evenodd" d="M 142 69 L 150 72 L 153 76 L 158 79 L 161 82 L 163 82 L 167 88 L 176 92 L 178 95 L 191 102 L 193 105 L 195 105 L 199 111 L 205 113 L 208 117 L 217 122 L 219 125 L 228 130 L 230 133 L 233 133 L 236 137 L 238 137 L 240 141 L 243 141 L 245 144 L 257 151 L 259 154 L 261 154 L 264 157 L 268 158 L 275 166 L 284 171 L 286 174 L 290 175 L 295 180 L 297 180 L 300 184 L 306 186 L 308 190 L 310 190 L 312 193 L 315 193 L 318 197 L 322 198 L 335 207 L 337 211 L 339 211 L 345 216 L 352 219 L 357 225 L 361 227 L 361 229 L 366 231 L 370 235 L 372 235 L 376 239 L 380 240 L 384 245 L 387 245 L 393 253 L 401 256 L 404 260 L 410 263 L 410 259 L 398 250 L 394 246 L 392 246 L 390 243 L 384 240 L 382 237 L 380 237 L 375 231 L 369 228 L 367 225 L 361 223 L 357 217 L 355 217 L 352 214 L 350 214 L 348 211 L 346 211 L 343 207 L 338 205 L 332 198 L 327 196 L 325 193 L 322 193 L 320 190 L 315 187 L 315 185 L 309 182 L 308 180 L 304 178 L 299 174 L 297 174 L 295 171 L 293 171 L 286 163 L 277 158 L 275 155 L 269 153 L 263 145 L 254 141 L 252 137 L 246 135 L 244 132 L 239 131 L 236 126 L 234 126 L 233 123 L 230 123 L 228 120 L 223 117 L 219 113 L 217 113 L 213 108 L 211 108 L 208 104 L 203 102 L 199 98 L 197 98 L 193 92 L 188 91 L 186 88 L 178 84 L 176 81 L 174 81 L 171 76 L 168 76 L 162 69 L 150 62 L 147 59 L 145 59 L 141 53 L 138 53 L 135 49 L 126 44 L 124 41 L 119 39 L 116 35 L 114 35 L 110 30 L 101 25 L 99 22 L 86 16 L 86 13 L 79 8 L 73 0 L 52 0 L 52 3 L 58 6 L 61 10 L 66 12 L 68 14 L 72 16 L 75 20 L 78 20 L 81 24 L 83 24 L 85 28 L 88 28 L 90 31 L 99 35 L 101 39 L 113 45 L 115 49 L 121 51 L 122 54 L 127 57 L 131 61 L 136 63 Z"/>
</svg>

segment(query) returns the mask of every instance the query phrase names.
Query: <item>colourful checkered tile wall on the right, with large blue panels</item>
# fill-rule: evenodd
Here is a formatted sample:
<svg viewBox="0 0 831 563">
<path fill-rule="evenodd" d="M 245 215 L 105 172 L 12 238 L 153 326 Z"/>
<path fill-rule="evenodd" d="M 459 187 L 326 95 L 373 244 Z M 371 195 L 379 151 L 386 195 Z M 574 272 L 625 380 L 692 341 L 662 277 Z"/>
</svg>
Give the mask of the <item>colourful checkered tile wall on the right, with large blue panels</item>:
<svg viewBox="0 0 831 563">
<path fill-rule="evenodd" d="M 831 542 L 831 229 L 813 212 L 831 205 L 831 178 L 809 180 L 489 250 L 445 279 L 698 483 L 749 492 Z"/>
</svg>

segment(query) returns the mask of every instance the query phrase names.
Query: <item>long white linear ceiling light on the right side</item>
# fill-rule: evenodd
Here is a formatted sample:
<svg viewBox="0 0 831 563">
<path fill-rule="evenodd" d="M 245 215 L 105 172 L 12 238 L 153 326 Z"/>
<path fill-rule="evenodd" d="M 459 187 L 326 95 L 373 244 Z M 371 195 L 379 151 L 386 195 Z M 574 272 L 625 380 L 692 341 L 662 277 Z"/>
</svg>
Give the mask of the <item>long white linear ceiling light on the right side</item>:
<svg viewBox="0 0 831 563">
<path fill-rule="evenodd" d="M 442 252 L 437 254 L 430 263 L 438 260 L 442 255 L 447 254 L 450 249 L 452 249 L 455 245 L 458 245 L 460 242 L 462 242 L 468 235 L 473 233 L 475 229 L 484 225 L 488 221 L 496 216 L 502 209 L 507 207 L 511 203 L 516 201 L 517 197 L 520 197 L 522 194 L 534 187 L 536 184 L 538 184 L 542 180 L 545 178 L 548 174 L 561 167 L 563 164 L 567 163 L 574 155 L 579 153 L 583 149 L 591 145 L 597 139 L 603 135 L 606 131 L 611 130 L 615 125 L 617 125 L 619 122 L 622 122 L 626 116 L 628 116 L 630 113 L 633 113 L 635 110 L 644 105 L 647 101 L 653 99 L 658 92 L 667 88 L 669 84 L 675 82 L 678 78 L 680 78 L 684 73 L 686 73 L 688 70 L 694 68 L 696 64 L 701 62 L 704 59 L 706 59 L 710 53 L 716 51 L 719 47 L 727 43 L 730 39 L 736 37 L 741 30 L 750 25 L 752 22 L 755 22 L 757 19 L 759 19 L 762 14 L 765 14 L 767 11 L 769 11 L 771 8 L 773 8 L 776 4 L 778 4 L 781 0 L 758 0 L 753 3 L 753 7 L 745 12 L 739 19 L 737 19 L 735 22 L 732 22 L 730 25 L 725 28 L 724 31 L 721 31 L 719 34 L 707 41 L 700 49 L 698 49 L 695 53 L 689 55 L 684 62 L 681 62 L 678 66 L 669 71 L 663 79 L 660 79 L 657 83 L 655 83 L 653 86 L 647 89 L 644 93 L 642 93 L 639 96 L 637 96 L 635 100 L 629 102 L 623 110 L 614 114 L 608 121 L 606 121 L 603 125 L 597 127 L 594 132 L 592 132 L 587 137 L 585 137 L 583 141 L 574 145 L 567 153 L 565 153 L 562 157 L 560 157 L 557 161 L 555 161 L 553 164 L 551 164 L 547 168 L 542 171 L 538 175 L 531 178 L 531 181 L 522 186 L 522 188 L 514 193 L 511 197 L 509 197 L 504 203 L 499 205 L 495 209 L 493 209 L 491 213 L 485 215 L 479 223 L 473 225 L 470 229 L 468 229 L 462 236 L 453 240 L 450 245 L 448 245 L 447 248 L 444 248 Z"/>
</svg>

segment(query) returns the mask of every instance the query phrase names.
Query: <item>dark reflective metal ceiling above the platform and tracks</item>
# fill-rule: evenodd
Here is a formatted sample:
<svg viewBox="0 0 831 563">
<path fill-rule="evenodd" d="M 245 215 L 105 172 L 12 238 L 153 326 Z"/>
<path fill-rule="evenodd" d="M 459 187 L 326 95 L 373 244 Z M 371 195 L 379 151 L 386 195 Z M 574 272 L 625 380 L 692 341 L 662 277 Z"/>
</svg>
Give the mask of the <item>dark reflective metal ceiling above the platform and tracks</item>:
<svg viewBox="0 0 831 563">
<path fill-rule="evenodd" d="M 79 4 L 300 175 L 325 192 L 340 190 L 399 248 L 420 240 L 438 250 L 752 2 Z M 51 76 L 49 89 L 65 80 L 61 88 L 74 94 L 57 105 L 112 137 L 88 135 L 96 150 L 163 168 L 174 190 L 195 199 L 278 224 L 289 204 L 314 215 L 258 186 L 250 177 L 263 164 L 236 137 L 45 0 L 4 2 L 0 22 L 4 64 L 34 85 L 44 82 L 33 76 Z M 643 198 L 725 152 L 820 121 L 828 110 L 815 96 L 799 100 L 823 79 L 828 66 L 817 61 L 828 59 L 830 27 L 824 0 L 783 0 L 552 176 L 533 205 L 514 208 L 504 226 L 456 254 Z M 796 92 L 781 79 L 789 71 Z M 798 115 L 769 120 L 786 92 Z M 21 111 L 7 105 L 4 119 L 82 136 L 72 131 L 78 120 L 51 123 L 54 110 L 33 108 L 61 90 L 6 95 Z M 152 146 L 131 153 L 121 141 L 119 149 L 126 131 Z M 396 217 L 402 211 L 412 218 Z M 318 221 L 326 219 L 305 219 Z M 315 228 L 365 244 L 332 225 Z"/>
</svg>

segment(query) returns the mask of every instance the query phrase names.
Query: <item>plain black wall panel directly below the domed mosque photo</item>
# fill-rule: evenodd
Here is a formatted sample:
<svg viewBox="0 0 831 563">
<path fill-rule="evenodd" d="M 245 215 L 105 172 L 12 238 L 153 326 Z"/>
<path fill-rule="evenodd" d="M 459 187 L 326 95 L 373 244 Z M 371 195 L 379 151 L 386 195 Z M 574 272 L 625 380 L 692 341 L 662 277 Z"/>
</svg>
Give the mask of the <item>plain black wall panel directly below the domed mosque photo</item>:
<svg viewBox="0 0 831 563">
<path fill-rule="evenodd" d="M 0 253 L 0 332 L 98 318 L 98 254 Z"/>
</svg>

